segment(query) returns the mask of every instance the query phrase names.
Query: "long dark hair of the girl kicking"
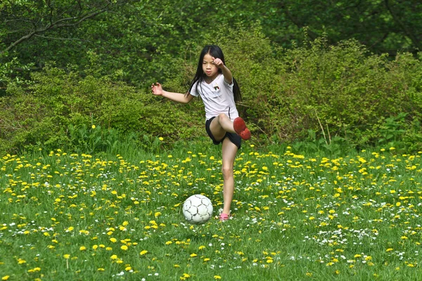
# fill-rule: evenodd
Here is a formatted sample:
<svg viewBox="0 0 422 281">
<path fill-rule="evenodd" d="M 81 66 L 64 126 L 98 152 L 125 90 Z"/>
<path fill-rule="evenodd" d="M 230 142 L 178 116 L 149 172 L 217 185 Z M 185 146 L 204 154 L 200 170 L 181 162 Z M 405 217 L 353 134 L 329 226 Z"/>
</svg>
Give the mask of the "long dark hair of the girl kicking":
<svg viewBox="0 0 422 281">
<path fill-rule="evenodd" d="M 203 51 L 200 52 L 199 55 L 199 61 L 198 61 L 198 68 L 196 69 L 196 74 L 195 77 L 193 77 L 192 83 L 191 83 L 191 87 L 189 88 L 189 92 L 191 91 L 193 85 L 198 82 L 198 84 L 196 84 L 196 92 L 198 92 L 198 85 L 204 81 L 204 78 L 206 76 L 206 74 L 203 71 L 203 60 L 204 60 L 204 56 L 206 54 L 209 54 L 211 56 L 213 56 L 214 58 L 219 58 L 220 60 L 222 60 L 222 62 L 224 63 L 224 65 L 226 65 L 226 61 L 224 60 L 224 54 L 222 49 L 217 46 L 217 45 L 207 45 L 203 48 Z M 222 73 L 222 70 L 218 70 L 218 72 Z M 239 88 L 237 81 L 233 78 L 233 94 L 234 94 L 234 101 L 238 102 L 242 100 L 242 95 L 241 95 L 241 89 Z"/>
</svg>

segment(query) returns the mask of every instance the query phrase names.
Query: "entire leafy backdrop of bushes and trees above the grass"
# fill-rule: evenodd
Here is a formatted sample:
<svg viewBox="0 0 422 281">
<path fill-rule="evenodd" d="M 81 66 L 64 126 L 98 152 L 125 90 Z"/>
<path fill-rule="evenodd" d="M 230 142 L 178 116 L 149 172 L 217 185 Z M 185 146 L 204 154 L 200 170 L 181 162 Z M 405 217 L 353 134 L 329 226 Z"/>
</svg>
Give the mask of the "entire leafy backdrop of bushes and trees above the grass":
<svg viewBox="0 0 422 281">
<path fill-rule="evenodd" d="M 91 117 L 170 143 L 196 136 L 200 101 L 174 105 L 147 92 L 156 81 L 186 92 L 200 49 L 219 44 L 257 141 L 302 140 L 312 130 L 315 140 L 326 133 L 324 143 L 329 131 L 331 140 L 373 144 L 387 136 L 379 131 L 385 119 L 406 112 L 411 143 L 418 138 L 411 124 L 421 119 L 421 58 L 372 55 L 418 46 L 421 6 L 400 3 L 3 1 L 0 97 L 8 98 L 0 128 L 8 143 L 26 132 L 11 147 L 34 137 L 53 144 L 52 131 L 89 126 Z"/>
</svg>

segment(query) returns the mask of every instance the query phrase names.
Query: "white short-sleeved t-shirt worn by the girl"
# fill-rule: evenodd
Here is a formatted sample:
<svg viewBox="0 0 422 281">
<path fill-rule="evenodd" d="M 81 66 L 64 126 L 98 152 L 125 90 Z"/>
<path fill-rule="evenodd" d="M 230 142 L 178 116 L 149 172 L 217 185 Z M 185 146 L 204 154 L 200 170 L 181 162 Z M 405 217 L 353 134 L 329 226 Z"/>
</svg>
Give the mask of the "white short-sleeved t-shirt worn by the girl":
<svg viewBox="0 0 422 281">
<path fill-rule="evenodd" d="M 207 120 L 216 117 L 220 113 L 225 113 L 230 117 L 231 121 L 239 117 L 236 104 L 234 103 L 233 82 L 228 84 L 224 81 L 223 74 L 218 74 L 210 84 L 202 81 L 198 85 L 198 92 L 196 91 L 197 84 L 198 81 L 193 84 L 190 94 L 202 98 Z"/>
</svg>

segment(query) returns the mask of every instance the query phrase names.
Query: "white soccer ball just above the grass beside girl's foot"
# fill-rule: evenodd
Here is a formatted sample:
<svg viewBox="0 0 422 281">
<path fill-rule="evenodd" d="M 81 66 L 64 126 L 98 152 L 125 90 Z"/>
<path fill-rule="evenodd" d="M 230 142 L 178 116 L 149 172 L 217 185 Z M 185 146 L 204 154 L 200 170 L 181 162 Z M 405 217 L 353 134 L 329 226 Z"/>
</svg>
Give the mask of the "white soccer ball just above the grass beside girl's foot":
<svg viewBox="0 0 422 281">
<path fill-rule="evenodd" d="M 200 194 L 188 197 L 183 204 L 183 214 L 186 221 L 193 224 L 206 223 L 212 216 L 211 200 Z"/>
</svg>

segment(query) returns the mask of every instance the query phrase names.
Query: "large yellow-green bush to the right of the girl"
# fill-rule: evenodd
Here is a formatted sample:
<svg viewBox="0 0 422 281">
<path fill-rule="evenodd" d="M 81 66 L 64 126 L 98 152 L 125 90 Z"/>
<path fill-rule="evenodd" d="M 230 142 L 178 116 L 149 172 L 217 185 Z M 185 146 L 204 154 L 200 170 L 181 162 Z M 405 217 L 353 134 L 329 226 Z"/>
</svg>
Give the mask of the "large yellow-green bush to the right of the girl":
<svg viewBox="0 0 422 281">
<path fill-rule="evenodd" d="M 243 92 L 243 116 L 258 139 L 313 141 L 353 147 L 391 143 L 385 126 L 400 117 L 395 140 L 421 149 L 422 63 L 409 53 L 388 60 L 357 41 L 328 46 L 321 37 L 304 46 L 272 46 L 260 27 L 238 27 L 216 38 Z M 392 128 L 390 128 L 392 129 Z M 421 143 L 421 142 L 419 142 Z"/>
</svg>

